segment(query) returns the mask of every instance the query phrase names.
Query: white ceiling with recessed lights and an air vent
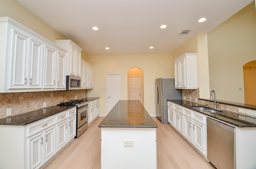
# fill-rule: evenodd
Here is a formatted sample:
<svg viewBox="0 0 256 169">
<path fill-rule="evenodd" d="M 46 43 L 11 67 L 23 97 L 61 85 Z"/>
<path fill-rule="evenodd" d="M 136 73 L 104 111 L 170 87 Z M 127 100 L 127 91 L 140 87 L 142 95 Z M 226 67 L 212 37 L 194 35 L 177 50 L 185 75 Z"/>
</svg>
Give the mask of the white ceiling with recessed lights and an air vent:
<svg viewBox="0 0 256 169">
<path fill-rule="evenodd" d="M 196 33 L 208 33 L 253 0 L 16 1 L 87 54 L 134 54 L 172 53 Z M 207 20 L 199 23 L 202 17 Z M 160 29 L 162 24 L 167 28 Z M 99 30 L 92 30 L 94 26 Z M 192 31 L 178 35 L 185 29 Z"/>
</svg>

